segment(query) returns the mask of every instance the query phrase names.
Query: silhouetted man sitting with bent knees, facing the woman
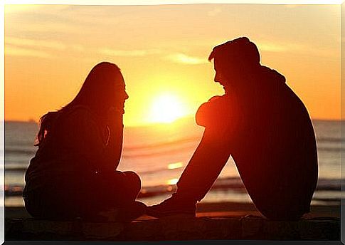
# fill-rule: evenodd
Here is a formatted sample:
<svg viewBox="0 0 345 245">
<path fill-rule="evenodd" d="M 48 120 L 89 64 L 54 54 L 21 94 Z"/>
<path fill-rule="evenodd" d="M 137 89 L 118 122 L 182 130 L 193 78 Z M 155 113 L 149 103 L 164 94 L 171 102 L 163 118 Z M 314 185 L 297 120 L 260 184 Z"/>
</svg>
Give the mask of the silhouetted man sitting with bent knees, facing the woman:
<svg viewBox="0 0 345 245">
<path fill-rule="evenodd" d="M 307 109 L 285 77 L 260 65 L 248 38 L 213 48 L 215 81 L 225 94 L 203 103 L 196 123 L 203 137 L 177 191 L 149 207 L 154 217 L 195 216 L 230 155 L 257 209 L 268 219 L 294 220 L 309 212 L 317 184 L 317 147 Z"/>
</svg>

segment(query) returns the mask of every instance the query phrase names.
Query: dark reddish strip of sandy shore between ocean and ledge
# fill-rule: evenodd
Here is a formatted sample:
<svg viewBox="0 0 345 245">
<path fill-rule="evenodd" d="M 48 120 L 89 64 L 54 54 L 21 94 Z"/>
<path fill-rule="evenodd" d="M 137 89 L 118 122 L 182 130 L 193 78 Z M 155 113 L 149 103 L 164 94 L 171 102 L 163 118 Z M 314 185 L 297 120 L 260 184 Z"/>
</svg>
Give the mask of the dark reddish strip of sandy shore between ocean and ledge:
<svg viewBox="0 0 345 245">
<path fill-rule="evenodd" d="M 251 203 L 240 202 L 201 202 L 196 209 L 197 217 L 243 217 L 245 215 L 262 216 Z M 6 207 L 5 218 L 29 218 L 30 215 L 23 207 Z M 340 205 L 314 205 L 309 214 L 304 218 L 312 219 L 317 217 L 340 218 Z M 152 219 L 149 216 L 142 216 L 139 220 Z"/>
</svg>

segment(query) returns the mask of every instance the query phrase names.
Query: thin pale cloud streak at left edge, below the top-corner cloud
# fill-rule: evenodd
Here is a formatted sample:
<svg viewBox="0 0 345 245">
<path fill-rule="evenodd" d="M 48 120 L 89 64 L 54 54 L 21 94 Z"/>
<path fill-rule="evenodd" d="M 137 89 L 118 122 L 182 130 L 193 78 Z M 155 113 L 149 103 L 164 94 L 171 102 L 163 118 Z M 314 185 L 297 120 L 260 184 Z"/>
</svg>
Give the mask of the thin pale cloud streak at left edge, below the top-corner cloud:
<svg viewBox="0 0 345 245">
<path fill-rule="evenodd" d="M 28 38 L 5 37 L 5 43 L 11 46 L 24 46 L 35 48 L 51 48 L 62 51 L 66 48 L 63 43 L 58 41 L 43 41 Z"/>
</svg>

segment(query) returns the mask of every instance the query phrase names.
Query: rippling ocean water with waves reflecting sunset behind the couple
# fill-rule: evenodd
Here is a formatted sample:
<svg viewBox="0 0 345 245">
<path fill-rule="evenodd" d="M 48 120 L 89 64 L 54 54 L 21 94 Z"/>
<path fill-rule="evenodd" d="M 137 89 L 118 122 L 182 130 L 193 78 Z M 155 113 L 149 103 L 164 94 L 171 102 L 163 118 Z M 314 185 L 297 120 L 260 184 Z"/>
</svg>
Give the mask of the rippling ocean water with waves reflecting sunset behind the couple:
<svg viewBox="0 0 345 245">
<path fill-rule="evenodd" d="M 339 204 L 341 199 L 341 121 L 313 120 L 317 137 L 319 180 L 312 204 Z M 35 155 L 37 123 L 5 122 L 5 206 L 21 207 L 24 174 Z M 193 118 L 174 123 L 124 127 L 118 170 L 132 170 L 142 179 L 139 200 L 152 205 L 169 197 L 201 140 L 203 127 Z M 288 154 L 288 152 L 287 152 Z M 251 202 L 230 157 L 201 202 Z"/>
</svg>

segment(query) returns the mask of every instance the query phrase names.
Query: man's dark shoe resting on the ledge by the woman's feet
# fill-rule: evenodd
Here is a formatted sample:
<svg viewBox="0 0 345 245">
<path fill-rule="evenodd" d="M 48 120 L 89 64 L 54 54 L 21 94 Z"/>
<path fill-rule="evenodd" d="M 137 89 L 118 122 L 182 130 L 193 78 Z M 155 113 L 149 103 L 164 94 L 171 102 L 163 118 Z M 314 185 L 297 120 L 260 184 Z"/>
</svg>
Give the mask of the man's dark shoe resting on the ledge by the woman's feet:
<svg viewBox="0 0 345 245">
<path fill-rule="evenodd" d="M 181 199 L 173 194 L 160 204 L 147 207 L 147 214 L 152 217 L 196 217 L 196 202 Z"/>
</svg>

